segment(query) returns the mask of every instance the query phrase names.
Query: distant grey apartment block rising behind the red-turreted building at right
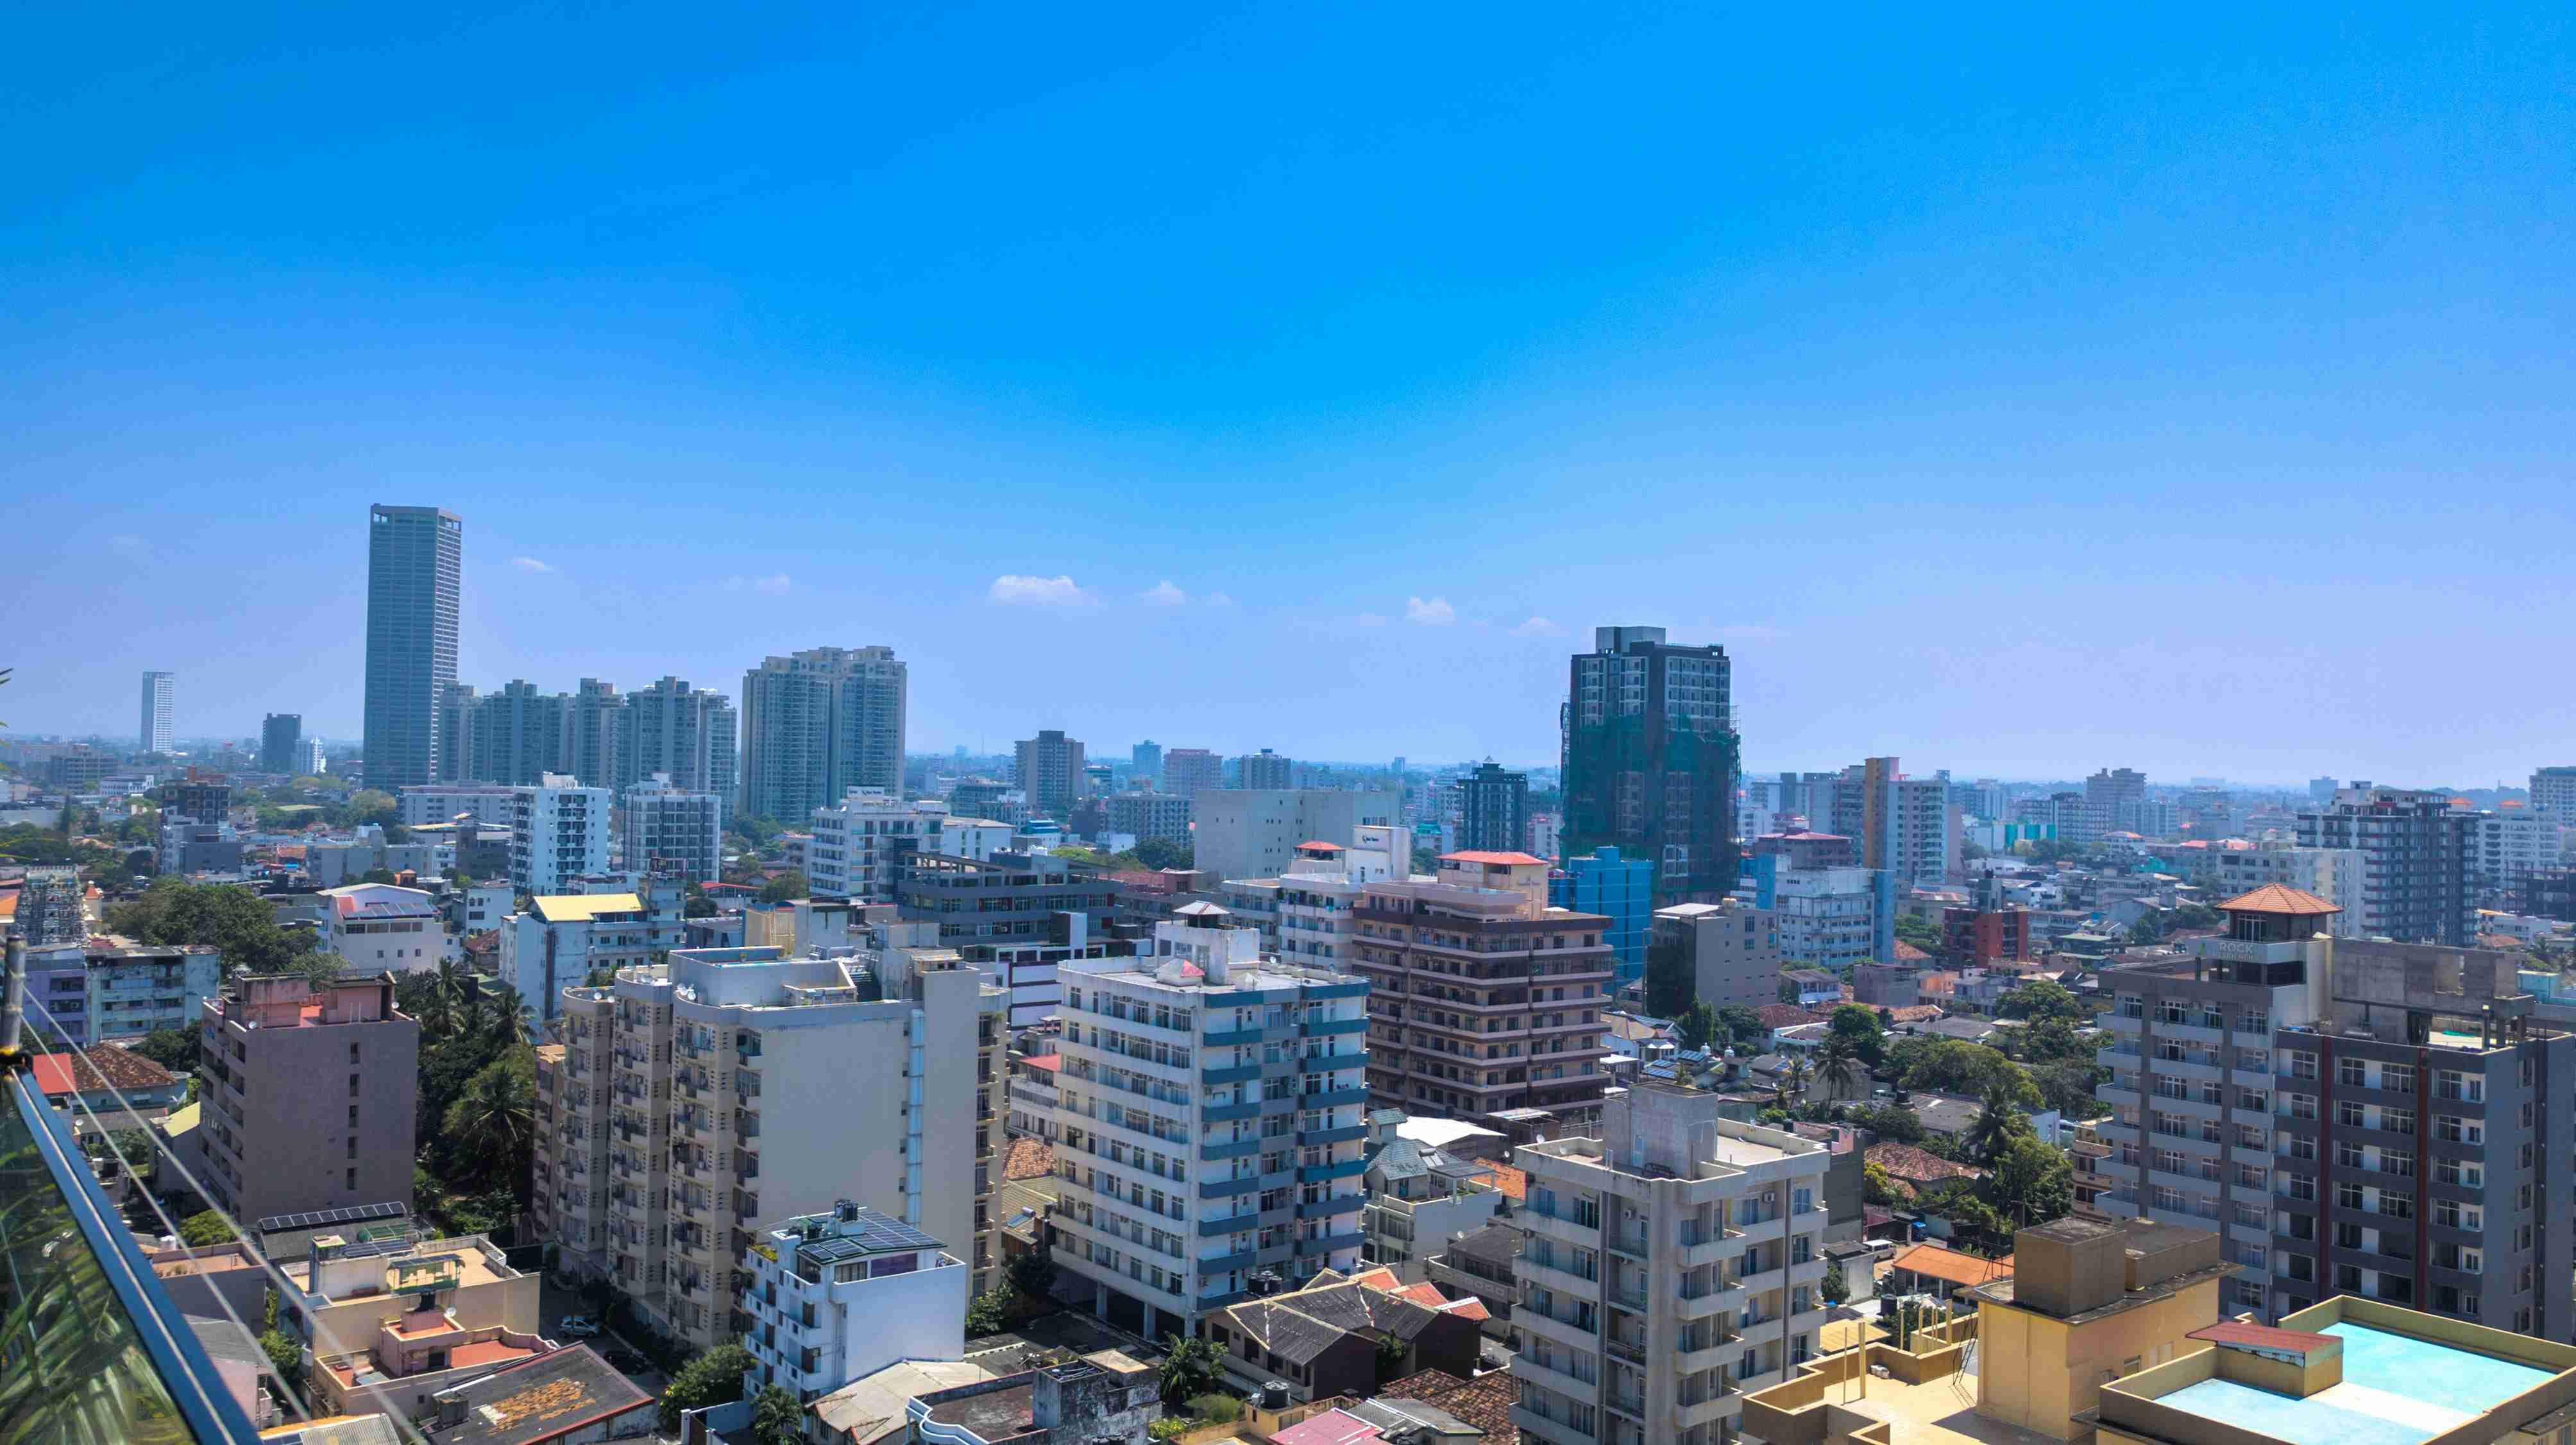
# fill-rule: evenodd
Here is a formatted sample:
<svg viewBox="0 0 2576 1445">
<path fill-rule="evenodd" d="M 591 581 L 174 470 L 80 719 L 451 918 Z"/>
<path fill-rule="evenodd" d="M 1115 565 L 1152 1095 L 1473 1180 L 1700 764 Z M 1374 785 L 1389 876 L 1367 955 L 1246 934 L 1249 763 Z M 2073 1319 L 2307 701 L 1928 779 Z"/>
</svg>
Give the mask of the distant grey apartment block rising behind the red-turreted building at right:
<svg viewBox="0 0 2576 1445">
<path fill-rule="evenodd" d="M 2360 932 L 2398 943 L 2470 940 L 2476 829 L 2478 814 L 2452 809 L 2450 793 L 2406 788 L 2342 788 L 2324 809 L 2298 814 L 2300 847 L 2362 855 Z"/>
</svg>

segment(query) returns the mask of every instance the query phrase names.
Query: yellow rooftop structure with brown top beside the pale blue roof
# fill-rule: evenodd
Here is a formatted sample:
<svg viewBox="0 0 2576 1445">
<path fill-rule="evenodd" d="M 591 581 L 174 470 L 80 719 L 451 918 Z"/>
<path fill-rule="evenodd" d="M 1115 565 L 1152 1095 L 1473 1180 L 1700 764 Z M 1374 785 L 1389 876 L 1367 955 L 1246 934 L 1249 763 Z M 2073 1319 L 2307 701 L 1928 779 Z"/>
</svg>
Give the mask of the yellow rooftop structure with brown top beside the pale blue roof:
<svg viewBox="0 0 2576 1445">
<path fill-rule="evenodd" d="M 2107 1381 L 2208 1350 L 2218 1283 L 2236 1265 L 2218 1236 L 2177 1223 L 2061 1218 L 2012 1236 L 2012 1278 L 1976 1301 L 1978 1401 L 1986 1419 L 2050 1440 L 2092 1432 Z"/>
</svg>

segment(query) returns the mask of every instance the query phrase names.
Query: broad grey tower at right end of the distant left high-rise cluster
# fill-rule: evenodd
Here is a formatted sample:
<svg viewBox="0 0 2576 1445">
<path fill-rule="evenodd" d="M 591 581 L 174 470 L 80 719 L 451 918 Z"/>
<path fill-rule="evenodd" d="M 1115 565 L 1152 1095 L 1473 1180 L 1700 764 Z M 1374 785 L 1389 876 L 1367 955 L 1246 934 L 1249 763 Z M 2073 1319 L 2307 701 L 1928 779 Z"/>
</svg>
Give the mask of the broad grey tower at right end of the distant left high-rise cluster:
<svg viewBox="0 0 2576 1445">
<path fill-rule="evenodd" d="M 891 647 L 814 647 L 744 672 L 742 811 L 801 822 L 850 788 L 899 796 L 904 688 Z"/>
</svg>

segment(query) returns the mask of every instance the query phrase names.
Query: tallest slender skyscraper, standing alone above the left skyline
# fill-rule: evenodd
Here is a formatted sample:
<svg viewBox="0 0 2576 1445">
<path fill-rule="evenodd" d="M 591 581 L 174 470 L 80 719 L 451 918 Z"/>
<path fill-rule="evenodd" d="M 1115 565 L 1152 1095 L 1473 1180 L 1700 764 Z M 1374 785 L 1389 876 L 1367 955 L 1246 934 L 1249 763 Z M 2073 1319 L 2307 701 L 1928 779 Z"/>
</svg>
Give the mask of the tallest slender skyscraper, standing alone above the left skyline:
<svg viewBox="0 0 2576 1445">
<path fill-rule="evenodd" d="M 440 507 L 366 510 L 366 786 L 438 780 L 438 698 L 456 680 L 466 523 Z"/>
</svg>

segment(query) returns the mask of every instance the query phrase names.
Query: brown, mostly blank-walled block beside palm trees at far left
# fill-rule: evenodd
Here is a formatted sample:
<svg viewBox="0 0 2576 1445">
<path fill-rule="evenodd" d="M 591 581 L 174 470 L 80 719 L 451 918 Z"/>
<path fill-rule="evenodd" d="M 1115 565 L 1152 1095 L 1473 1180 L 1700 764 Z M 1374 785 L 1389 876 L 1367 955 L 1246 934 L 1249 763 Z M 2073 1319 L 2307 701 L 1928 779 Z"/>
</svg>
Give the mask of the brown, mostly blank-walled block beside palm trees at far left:
<svg viewBox="0 0 2576 1445">
<path fill-rule="evenodd" d="M 394 1012 L 392 974 L 237 974 L 204 1020 L 211 1205 L 250 1221 L 412 1198 L 420 1023 Z"/>
</svg>

